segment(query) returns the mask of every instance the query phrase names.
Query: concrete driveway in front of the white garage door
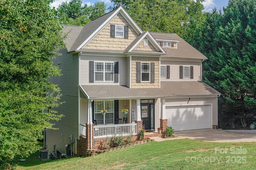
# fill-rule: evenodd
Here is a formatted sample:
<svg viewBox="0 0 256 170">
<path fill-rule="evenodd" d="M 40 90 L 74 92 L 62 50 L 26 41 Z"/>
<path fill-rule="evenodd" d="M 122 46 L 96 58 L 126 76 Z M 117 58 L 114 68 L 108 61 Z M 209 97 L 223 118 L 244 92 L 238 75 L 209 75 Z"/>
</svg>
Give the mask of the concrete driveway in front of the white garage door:
<svg viewBox="0 0 256 170">
<path fill-rule="evenodd" d="M 207 142 L 256 142 L 256 134 L 228 133 L 217 129 L 174 131 L 173 135 Z"/>
</svg>

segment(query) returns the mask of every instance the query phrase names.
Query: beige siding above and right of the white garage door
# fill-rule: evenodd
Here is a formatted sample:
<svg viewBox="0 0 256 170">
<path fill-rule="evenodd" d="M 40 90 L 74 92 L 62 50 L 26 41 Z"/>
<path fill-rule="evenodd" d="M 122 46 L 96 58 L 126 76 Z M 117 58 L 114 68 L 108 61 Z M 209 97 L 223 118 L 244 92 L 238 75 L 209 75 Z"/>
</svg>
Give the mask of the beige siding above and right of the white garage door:
<svg viewBox="0 0 256 170">
<path fill-rule="evenodd" d="M 188 97 L 191 101 L 188 103 Z M 182 98 L 166 98 L 165 106 L 188 106 L 188 105 L 205 105 L 212 104 L 212 125 L 217 125 L 217 100 L 216 97 L 182 97 Z"/>
</svg>

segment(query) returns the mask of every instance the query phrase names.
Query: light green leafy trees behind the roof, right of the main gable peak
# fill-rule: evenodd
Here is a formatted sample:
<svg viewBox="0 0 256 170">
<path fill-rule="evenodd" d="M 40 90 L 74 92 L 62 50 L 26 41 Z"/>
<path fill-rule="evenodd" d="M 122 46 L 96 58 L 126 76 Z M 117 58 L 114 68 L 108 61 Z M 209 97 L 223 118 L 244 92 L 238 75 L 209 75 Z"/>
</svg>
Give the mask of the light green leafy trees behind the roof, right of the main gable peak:
<svg viewBox="0 0 256 170">
<path fill-rule="evenodd" d="M 190 20 L 202 16 L 202 0 L 111 0 L 121 2 L 128 14 L 144 31 L 176 33 L 183 36 Z"/>
</svg>

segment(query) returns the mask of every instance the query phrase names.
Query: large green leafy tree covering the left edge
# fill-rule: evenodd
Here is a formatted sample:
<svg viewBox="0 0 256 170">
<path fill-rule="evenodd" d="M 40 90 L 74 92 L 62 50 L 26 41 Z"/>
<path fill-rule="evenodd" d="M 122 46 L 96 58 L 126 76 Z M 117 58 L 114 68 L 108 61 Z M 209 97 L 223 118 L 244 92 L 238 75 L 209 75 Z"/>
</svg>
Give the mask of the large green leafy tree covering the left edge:
<svg viewBox="0 0 256 170">
<path fill-rule="evenodd" d="M 44 128 L 62 116 L 51 110 L 60 89 L 46 80 L 60 75 L 50 58 L 63 47 L 51 2 L 0 1 L 0 169 L 38 150 Z"/>
</svg>

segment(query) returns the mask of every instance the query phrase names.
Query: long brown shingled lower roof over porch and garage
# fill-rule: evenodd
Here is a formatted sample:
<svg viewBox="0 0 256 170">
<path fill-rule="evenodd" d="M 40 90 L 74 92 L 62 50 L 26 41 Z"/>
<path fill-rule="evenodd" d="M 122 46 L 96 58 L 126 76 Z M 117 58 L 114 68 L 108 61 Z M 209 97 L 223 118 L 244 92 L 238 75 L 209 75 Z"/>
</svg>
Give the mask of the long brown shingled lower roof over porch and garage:
<svg viewBox="0 0 256 170">
<path fill-rule="evenodd" d="M 204 82 L 161 82 L 161 88 L 129 88 L 121 85 L 79 85 L 88 99 L 165 98 L 178 95 L 219 95 Z"/>
</svg>

